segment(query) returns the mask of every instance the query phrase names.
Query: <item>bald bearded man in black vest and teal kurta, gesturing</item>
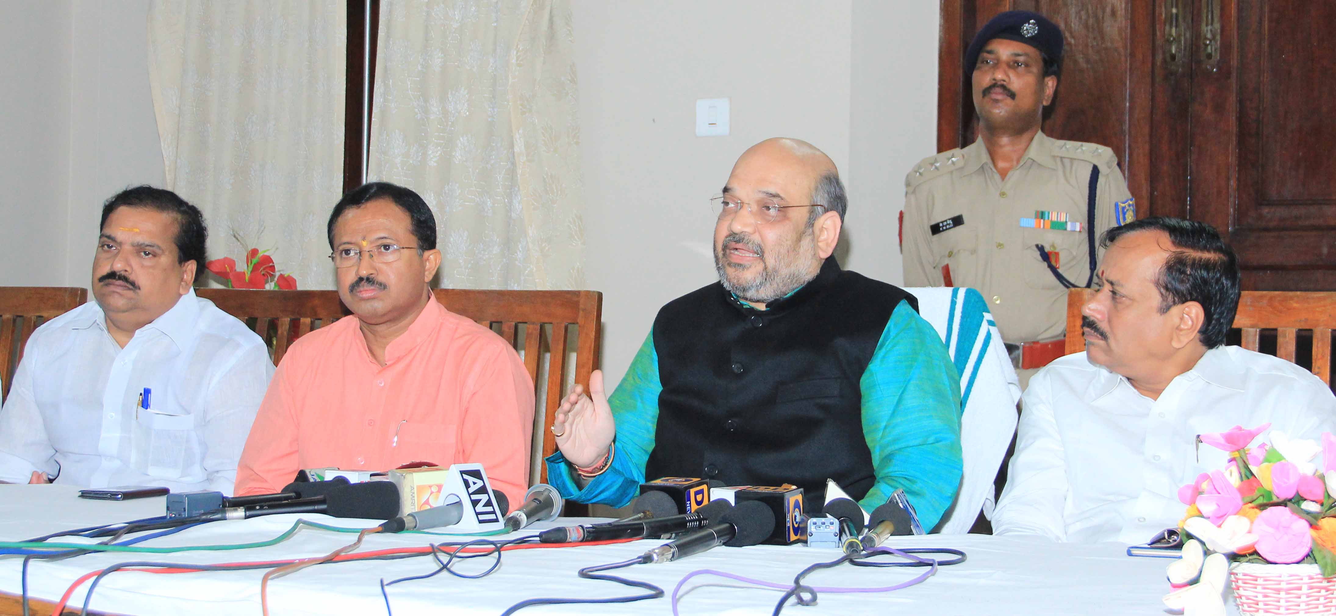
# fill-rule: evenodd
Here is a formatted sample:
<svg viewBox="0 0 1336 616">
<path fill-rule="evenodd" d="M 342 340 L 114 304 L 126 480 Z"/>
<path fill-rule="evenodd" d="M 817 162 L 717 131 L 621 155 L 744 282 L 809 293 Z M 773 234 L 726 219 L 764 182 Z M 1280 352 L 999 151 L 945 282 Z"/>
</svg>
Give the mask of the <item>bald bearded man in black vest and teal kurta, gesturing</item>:
<svg viewBox="0 0 1336 616">
<path fill-rule="evenodd" d="M 935 525 L 961 480 L 959 376 L 912 296 L 831 256 L 846 209 L 835 164 L 762 141 L 713 208 L 719 281 L 659 311 L 611 397 L 601 372 L 589 396 L 576 385 L 549 481 L 613 507 L 645 477 L 792 483 L 814 511 L 828 477 L 868 509 L 903 488 Z"/>
</svg>

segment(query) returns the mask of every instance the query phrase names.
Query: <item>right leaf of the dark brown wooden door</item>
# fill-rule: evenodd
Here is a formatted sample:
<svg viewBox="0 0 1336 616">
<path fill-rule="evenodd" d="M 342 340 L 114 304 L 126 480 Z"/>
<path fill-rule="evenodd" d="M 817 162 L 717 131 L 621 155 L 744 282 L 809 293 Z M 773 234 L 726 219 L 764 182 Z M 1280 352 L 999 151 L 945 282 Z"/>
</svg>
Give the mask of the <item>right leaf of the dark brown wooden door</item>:
<svg viewBox="0 0 1336 616">
<path fill-rule="evenodd" d="M 1220 44 L 1194 45 L 1188 216 L 1229 228 L 1246 289 L 1336 289 L 1336 3 L 1194 8 Z"/>
</svg>

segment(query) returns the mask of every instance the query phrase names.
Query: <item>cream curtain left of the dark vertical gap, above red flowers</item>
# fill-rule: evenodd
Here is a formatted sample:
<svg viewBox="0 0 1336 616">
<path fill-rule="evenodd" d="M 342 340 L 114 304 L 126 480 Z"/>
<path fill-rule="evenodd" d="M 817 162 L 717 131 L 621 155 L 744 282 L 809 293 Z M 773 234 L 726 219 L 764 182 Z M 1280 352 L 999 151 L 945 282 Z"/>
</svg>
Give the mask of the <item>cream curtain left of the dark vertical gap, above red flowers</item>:
<svg viewBox="0 0 1336 616">
<path fill-rule="evenodd" d="M 333 288 L 342 195 L 343 1 L 152 0 L 148 65 L 167 188 L 208 221 L 210 259 L 270 251 Z"/>
</svg>

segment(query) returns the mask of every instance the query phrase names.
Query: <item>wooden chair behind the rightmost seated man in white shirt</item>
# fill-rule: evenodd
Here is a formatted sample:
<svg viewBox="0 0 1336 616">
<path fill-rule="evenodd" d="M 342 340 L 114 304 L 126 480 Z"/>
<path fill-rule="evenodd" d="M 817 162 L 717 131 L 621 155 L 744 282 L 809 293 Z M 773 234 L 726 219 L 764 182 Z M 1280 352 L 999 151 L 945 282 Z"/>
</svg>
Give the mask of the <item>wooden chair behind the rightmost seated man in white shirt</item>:
<svg viewBox="0 0 1336 616">
<path fill-rule="evenodd" d="M 1081 336 L 1081 307 L 1089 301 L 1092 289 L 1067 291 L 1066 353 L 1085 351 Z M 1244 291 L 1238 297 L 1238 312 L 1233 327 L 1242 329 L 1241 345 L 1257 351 L 1261 331 L 1276 329 L 1276 356 L 1295 361 L 1300 329 L 1312 329 L 1312 371 L 1328 387 L 1331 380 L 1332 329 L 1336 328 L 1336 292 L 1309 291 Z"/>
</svg>

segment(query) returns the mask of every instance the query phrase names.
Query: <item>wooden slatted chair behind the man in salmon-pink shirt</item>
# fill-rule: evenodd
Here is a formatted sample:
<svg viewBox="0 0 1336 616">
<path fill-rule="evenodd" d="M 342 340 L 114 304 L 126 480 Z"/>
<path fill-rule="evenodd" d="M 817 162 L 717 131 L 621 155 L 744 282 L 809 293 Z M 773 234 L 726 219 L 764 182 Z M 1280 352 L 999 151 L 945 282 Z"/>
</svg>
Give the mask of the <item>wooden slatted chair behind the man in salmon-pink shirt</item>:
<svg viewBox="0 0 1336 616">
<path fill-rule="evenodd" d="M 347 315 L 335 291 L 195 289 L 223 312 L 255 329 L 282 361 L 289 345 L 313 329 Z M 436 289 L 437 301 L 456 315 L 492 328 L 524 359 L 533 379 L 534 467 L 530 477 L 546 481 L 542 457 L 557 451 L 548 429 L 565 395 L 566 381 L 589 384 L 599 368 L 603 293 L 597 291 Z M 572 339 L 569 328 L 576 328 Z M 572 344 L 573 343 L 573 344 Z M 570 371 L 570 353 L 574 367 Z M 546 356 L 546 357 L 544 357 Z M 540 457 L 541 456 L 541 457 Z"/>
</svg>

